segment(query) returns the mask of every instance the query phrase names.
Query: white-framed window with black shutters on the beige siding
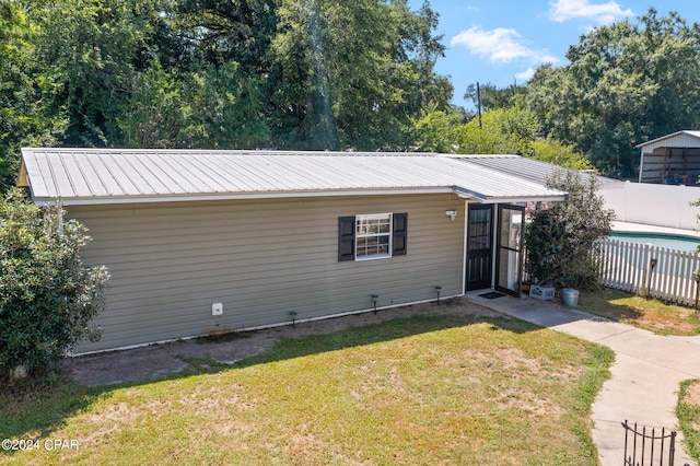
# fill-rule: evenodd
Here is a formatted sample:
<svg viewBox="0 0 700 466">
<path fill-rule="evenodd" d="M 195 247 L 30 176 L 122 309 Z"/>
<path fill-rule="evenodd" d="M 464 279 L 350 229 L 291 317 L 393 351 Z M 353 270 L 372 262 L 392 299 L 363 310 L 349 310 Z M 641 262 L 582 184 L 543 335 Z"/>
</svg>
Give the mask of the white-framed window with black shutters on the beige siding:
<svg viewBox="0 0 700 466">
<path fill-rule="evenodd" d="M 338 260 L 406 254 L 408 214 L 372 213 L 338 219 Z"/>
</svg>

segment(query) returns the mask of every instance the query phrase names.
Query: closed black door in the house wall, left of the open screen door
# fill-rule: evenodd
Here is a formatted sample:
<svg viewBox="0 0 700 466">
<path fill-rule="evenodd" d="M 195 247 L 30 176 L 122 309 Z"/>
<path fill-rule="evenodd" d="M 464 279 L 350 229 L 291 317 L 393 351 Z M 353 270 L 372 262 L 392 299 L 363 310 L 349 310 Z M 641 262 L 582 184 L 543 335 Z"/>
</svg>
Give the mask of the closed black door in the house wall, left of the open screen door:
<svg viewBox="0 0 700 466">
<path fill-rule="evenodd" d="M 467 277 L 466 290 L 491 287 L 493 263 L 493 206 L 469 205 L 467 220 Z"/>
</svg>

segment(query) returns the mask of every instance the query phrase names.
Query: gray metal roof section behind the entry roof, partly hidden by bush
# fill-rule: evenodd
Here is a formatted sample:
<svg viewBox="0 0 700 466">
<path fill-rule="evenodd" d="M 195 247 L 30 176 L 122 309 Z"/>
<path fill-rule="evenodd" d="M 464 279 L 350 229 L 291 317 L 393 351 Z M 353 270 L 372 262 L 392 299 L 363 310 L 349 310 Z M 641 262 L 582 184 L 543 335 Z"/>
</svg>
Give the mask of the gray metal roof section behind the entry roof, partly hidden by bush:
<svg viewBox="0 0 700 466">
<path fill-rule="evenodd" d="M 454 155 L 459 160 L 464 160 L 469 163 L 474 163 L 487 168 L 495 170 L 501 173 L 508 173 L 518 178 L 527 179 L 540 185 L 547 184 L 547 176 L 553 174 L 557 171 L 562 170 L 561 166 L 551 163 L 542 162 L 530 158 L 514 154 L 503 155 Z M 588 172 L 582 171 L 582 174 L 587 175 Z M 622 183 L 619 179 L 607 178 L 605 176 L 596 176 L 596 179 L 600 185 L 611 183 Z"/>
</svg>

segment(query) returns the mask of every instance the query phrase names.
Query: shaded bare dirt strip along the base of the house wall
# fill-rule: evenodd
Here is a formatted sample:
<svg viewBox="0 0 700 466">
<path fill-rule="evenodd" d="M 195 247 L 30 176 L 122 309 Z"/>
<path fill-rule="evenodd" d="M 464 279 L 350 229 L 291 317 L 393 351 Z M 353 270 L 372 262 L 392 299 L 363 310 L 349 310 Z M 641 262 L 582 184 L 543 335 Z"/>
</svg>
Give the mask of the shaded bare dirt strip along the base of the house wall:
<svg viewBox="0 0 700 466">
<path fill-rule="evenodd" d="M 326 335 L 351 327 L 376 324 L 392 318 L 415 315 L 459 314 L 469 316 L 502 316 L 464 299 L 406 307 L 368 312 L 337 318 L 313 321 L 296 326 L 275 327 L 247 331 L 242 335 L 217 338 L 178 340 L 122 351 L 102 352 L 61 361 L 67 376 L 84 385 L 108 385 L 121 382 L 140 382 L 183 371 L 188 359 L 211 358 L 232 364 L 244 358 L 259 354 L 272 348 L 282 338 L 307 335 Z"/>
</svg>

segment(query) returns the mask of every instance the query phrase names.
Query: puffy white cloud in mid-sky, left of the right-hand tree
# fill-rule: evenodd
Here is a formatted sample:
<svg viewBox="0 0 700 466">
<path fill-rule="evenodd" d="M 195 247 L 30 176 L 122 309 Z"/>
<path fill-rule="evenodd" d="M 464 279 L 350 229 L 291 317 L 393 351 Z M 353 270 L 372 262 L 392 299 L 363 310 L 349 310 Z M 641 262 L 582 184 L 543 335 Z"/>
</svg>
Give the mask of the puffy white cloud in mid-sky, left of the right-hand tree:
<svg viewBox="0 0 700 466">
<path fill-rule="evenodd" d="M 558 61 L 556 57 L 528 48 L 522 42 L 523 36 L 515 30 L 497 27 L 483 31 L 479 26 L 472 26 L 454 36 L 451 44 L 464 45 L 470 53 L 501 63 L 516 59 L 527 59 L 535 63 Z"/>
</svg>

